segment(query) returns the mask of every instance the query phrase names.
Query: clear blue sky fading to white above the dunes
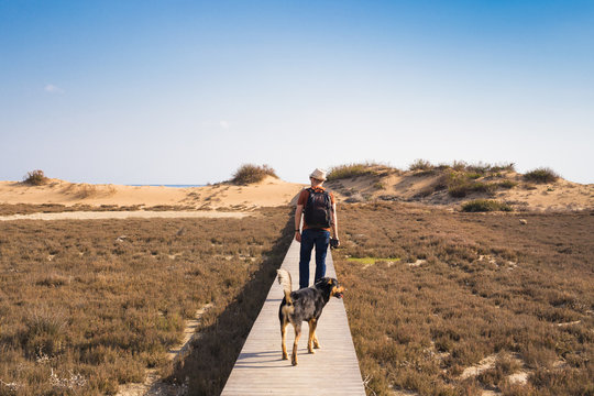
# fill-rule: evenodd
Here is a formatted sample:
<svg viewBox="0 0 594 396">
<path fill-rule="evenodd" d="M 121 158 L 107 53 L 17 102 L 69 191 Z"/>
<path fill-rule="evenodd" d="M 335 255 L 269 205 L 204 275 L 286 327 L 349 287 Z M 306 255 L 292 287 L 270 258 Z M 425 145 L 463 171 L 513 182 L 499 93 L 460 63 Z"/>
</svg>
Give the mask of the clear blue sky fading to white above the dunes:
<svg viewBox="0 0 594 396">
<path fill-rule="evenodd" d="M 594 1 L 0 0 L 0 147 L 2 180 L 425 158 L 594 183 Z"/>
</svg>

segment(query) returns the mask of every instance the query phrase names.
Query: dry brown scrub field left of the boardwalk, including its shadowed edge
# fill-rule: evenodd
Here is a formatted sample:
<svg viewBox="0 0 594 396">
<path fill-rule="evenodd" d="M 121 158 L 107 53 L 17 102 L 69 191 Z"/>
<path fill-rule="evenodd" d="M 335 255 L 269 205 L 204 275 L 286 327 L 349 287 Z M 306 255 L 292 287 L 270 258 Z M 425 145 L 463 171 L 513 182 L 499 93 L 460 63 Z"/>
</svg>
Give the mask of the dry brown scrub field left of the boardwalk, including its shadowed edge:
<svg viewBox="0 0 594 396">
<path fill-rule="evenodd" d="M 0 395 L 114 394 L 146 367 L 183 383 L 197 364 L 190 392 L 220 393 L 288 248 L 288 211 L 0 223 Z M 174 365 L 167 350 L 207 304 Z"/>
</svg>

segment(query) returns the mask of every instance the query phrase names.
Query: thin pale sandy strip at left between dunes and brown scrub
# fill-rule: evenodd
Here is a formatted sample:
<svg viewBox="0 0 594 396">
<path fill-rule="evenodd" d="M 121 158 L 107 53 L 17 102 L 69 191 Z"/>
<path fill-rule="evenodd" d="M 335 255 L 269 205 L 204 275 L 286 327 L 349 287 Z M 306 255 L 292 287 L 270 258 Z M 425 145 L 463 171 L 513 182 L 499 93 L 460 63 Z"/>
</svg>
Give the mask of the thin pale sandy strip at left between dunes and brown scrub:
<svg viewBox="0 0 594 396">
<path fill-rule="evenodd" d="M 254 216 L 249 212 L 223 212 L 215 210 L 202 211 L 68 211 L 57 213 L 30 213 L 0 216 L 0 221 L 11 220 L 98 220 L 98 219 L 154 219 L 154 218 L 235 218 Z"/>
</svg>

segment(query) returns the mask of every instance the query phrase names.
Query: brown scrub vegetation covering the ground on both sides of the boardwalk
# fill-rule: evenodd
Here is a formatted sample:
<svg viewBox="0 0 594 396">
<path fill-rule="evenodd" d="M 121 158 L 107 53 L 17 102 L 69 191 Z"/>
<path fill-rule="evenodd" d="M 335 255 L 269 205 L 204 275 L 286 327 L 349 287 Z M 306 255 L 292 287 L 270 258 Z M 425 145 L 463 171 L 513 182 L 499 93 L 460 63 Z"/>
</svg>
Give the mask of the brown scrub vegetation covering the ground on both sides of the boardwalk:
<svg viewBox="0 0 594 396">
<path fill-rule="evenodd" d="M 380 202 L 339 216 L 333 258 L 369 395 L 594 393 L 590 212 L 524 212 L 520 223 Z M 285 207 L 1 222 L 0 395 L 116 394 L 147 367 L 189 394 L 219 394 L 292 220 Z M 168 361 L 205 307 L 189 350 Z"/>
</svg>

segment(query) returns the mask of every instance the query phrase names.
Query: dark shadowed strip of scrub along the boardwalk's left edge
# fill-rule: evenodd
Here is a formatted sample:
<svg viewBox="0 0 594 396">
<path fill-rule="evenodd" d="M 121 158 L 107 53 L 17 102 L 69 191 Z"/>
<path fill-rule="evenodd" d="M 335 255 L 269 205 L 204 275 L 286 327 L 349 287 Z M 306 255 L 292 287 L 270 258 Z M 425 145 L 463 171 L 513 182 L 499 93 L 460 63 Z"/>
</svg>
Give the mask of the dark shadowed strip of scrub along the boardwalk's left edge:
<svg viewBox="0 0 594 396">
<path fill-rule="evenodd" d="M 200 334 L 191 342 L 188 353 L 177 361 L 173 374 L 165 382 L 187 384 L 190 395 L 219 395 L 222 392 L 293 235 L 292 212 L 274 248 L 264 253 L 265 260 L 260 270 L 215 322 L 199 330 Z"/>
</svg>

